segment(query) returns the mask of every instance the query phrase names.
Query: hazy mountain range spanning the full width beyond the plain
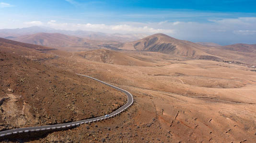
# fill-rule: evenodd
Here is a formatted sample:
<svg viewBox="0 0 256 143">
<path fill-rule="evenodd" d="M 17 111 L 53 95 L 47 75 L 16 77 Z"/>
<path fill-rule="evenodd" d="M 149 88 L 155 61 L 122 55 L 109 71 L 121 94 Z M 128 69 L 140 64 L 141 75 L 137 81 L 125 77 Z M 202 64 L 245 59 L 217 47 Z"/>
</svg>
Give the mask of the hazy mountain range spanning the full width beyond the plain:
<svg viewBox="0 0 256 143">
<path fill-rule="evenodd" d="M 24 34 L 22 32 L 23 30 L 20 29 L 16 33 Z M 9 32 L 10 31 L 14 30 L 9 30 Z M 34 32 L 35 31 L 41 30 L 36 30 L 35 28 Z M 256 44 L 238 43 L 233 45 L 220 46 L 208 42 L 194 43 L 191 41 L 178 40 L 162 33 L 153 34 L 140 40 L 131 42 L 104 41 L 103 39 L 92 40 L 87 38 L 81 38 L 78 36 L 65 35 L 61 33 L 45 32 L 21 36 L 16 35 L 16 37 L 15 35 L 13 35 L 7 38 L 14 41 L 21 41 L 25 43 L 48 46 L 63 50 L 65 50 L 63 47 L 68 46 L 71 49 L 70 51 L 83 51 L 84 48 L 128 51 L 153 51 L 173 56 L 184 56 L 204 60 L 239 61 L 247 62 L 250 64 L 256 62 Z M 81 48 L 76 49 L 76 47 Z"/>
</svg>

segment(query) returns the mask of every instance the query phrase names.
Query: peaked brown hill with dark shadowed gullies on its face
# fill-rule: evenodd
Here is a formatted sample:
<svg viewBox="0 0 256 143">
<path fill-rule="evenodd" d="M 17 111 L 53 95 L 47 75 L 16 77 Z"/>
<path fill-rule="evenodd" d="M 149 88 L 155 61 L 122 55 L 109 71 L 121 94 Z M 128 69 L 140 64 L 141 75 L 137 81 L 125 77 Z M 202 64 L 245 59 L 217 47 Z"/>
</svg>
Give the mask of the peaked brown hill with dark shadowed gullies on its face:
<svg viewBox="0 0 256 143">
<path fill-rule="evenodd" d="M 200 48 L 204 48 L 204 46 L 190 41 L 178 40 L 168 35 L 159 33 L 148 36 L 139 41 L 126 43 L 124 44 L 122 49 L 138 51 L 158 51 L 167 54 L 189 57 L 210 55 L 200 50 Z"/>
</svg>

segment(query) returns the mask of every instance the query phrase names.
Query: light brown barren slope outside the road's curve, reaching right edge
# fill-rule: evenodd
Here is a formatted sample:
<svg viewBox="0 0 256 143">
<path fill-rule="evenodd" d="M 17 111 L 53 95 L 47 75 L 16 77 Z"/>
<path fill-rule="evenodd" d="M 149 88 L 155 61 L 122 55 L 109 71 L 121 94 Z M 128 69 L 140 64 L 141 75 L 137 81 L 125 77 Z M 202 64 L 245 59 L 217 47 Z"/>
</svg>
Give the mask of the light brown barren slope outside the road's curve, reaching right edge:
<svg viewBox="0 0 256 143">
<path fill-rule="evenodd" d="M 82 125 L 77 131 L 48 134 L 43 141 L 253 143 L 256 140 L 256 72 L 241 65 L 186 60 L 158 52 L 146 52 L 143 56 L 158 57 L 159 65 L 124 66 L 74 57 L 67 57 L 65 63 L 58 59 L 46 61 L 116 84 L 134 95 L 135 104 L 125 114 L 97 123 L 97 127 Z"/>
</svg>

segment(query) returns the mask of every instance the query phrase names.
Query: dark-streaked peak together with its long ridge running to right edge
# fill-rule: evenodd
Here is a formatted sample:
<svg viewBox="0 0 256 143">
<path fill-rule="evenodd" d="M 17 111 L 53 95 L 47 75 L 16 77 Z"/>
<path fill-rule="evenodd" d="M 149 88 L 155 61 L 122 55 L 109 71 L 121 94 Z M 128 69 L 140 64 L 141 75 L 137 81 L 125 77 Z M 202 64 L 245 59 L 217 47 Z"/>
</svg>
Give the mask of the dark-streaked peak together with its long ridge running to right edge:
<svg viewBox="0 0 256 143">
<path fill-rule="evenodd" d="M 256 64 L 255 45 L 234 44 L 217 46 L 216 44 L 205 42 L 197 44 L 178 40 L 161 33 L 148 36 L 139 41 L 124 43 L 121 49 L 157 51 L 172 56 L 185 56 L 202 60 L 238 61 L 246 64 Z"/>
</svg>

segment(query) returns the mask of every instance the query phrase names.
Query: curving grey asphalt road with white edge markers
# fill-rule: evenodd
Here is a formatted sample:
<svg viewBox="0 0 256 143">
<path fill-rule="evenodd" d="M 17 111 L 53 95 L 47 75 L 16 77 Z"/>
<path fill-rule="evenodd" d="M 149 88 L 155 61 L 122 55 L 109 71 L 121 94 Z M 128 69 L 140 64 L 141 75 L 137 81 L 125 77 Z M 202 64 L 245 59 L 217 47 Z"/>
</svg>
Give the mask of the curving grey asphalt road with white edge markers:
<svg viewBox="0 0 256 143">
<path fill-rule="evenodd" d="M 95 81 L 98 82 L 102 82 L 110 87 L 115 88 L 118 91 L 124 92 L 127 95 L 127 103 L 125 105 L 123 105 L 122 107 L 118 108 L 116 111 L 109 113 L 109 117 L 105 117 L 105 116 L 100 116 L 100 117 L 96 117 L 96 118 L 92 118 L 92 119 L 86 119 L 86 120 L 81 120 L 81 121 L 76 121 L 76 122 L 71 122 L 71 123 L 61 123 L 61 124 L 54 124 L 54 125 L 46 125 L 46 126 L 37 126 L 37 127 L 26 127 L 26 128 L 18 128 L 18 129 L 12 129 L 12 130 L 6 130 L 6 131 L 2 131 L 0 132 L 0 137 L 7 137 L 9 135 L 12 134 L 17 134 L 17 133 L 28 133 L 28 132 L 38 132 L 38 131 L 45 131 L 45 130 L 59 130 L 59 129 L 66 129 L 66 128 L 70 128 L 70 127 L 75 127 L 75 126 L 79 126 L 80 124 L 83 123 L 93 123 L 93 122 L 99 122 L 99 121 L 103 121 L 109 118 L 113 118 L 116 115 L 124 112 L 128 107 L 130 107 L 133 104 L 133 97 L 132 94 L 126 90 L 123 90 L 119 87 L 116 87 L 114 85 L 108 84 L 106 82 L 97 80 L 93 77 L 90 76 L 86 76 L 86 75 L 82 75 L 82 74 L 78 74 L 77 75 L 81 75 L 84 77 L 88 77 L 91 78 Z"/>
</svg>

